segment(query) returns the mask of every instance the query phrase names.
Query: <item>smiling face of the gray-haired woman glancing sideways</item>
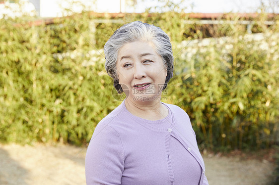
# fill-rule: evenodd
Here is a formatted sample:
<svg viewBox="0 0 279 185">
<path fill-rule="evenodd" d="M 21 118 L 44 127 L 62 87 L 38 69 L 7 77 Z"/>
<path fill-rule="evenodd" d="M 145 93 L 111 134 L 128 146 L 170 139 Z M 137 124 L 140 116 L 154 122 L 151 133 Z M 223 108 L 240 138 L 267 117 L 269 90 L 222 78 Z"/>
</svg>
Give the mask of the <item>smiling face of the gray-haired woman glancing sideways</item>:
<svg viewBox="0 0 279 185">
<path fill-rule="evenodd" d="M 132 101 L 160 100 L 167 70 L 154 47 L 143 41 L 122 46 L 116 63 L 119 84 Z"/>
</svg>

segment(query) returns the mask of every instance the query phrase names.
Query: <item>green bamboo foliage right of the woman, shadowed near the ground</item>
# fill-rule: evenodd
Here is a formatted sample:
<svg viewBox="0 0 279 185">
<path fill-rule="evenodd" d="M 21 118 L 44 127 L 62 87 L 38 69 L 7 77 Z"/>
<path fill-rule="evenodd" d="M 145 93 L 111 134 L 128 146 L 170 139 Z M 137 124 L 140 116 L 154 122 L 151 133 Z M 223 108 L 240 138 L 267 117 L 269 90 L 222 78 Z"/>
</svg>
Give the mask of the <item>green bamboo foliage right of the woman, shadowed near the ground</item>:
<svg viewBox="0 0 279 185">
<path fill-rule="evenodd" d="M 204 147 L 267 147 L 278 132 L 279 35 L 243 35 L 232 28 L 231 37 L 182 46 L 169 102 L 190 114 Z"/>
</svg>

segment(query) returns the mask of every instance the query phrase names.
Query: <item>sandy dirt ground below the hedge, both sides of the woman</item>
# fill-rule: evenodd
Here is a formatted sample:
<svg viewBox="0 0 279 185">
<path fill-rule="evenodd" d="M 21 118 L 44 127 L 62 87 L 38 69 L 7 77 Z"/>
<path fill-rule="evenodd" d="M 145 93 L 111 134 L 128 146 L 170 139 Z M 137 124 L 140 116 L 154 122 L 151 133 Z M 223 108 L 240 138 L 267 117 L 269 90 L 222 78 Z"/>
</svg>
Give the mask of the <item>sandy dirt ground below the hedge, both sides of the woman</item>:
<svg viewBox="0 0 279 185">
<path fill-rule="evenodd" d="M 85 185 L 86 148 L 0 144 L 0 185 Z M 274 164 L 239 157 L 204 157 L 209 185 L 266 185 Z"/>
</svg>

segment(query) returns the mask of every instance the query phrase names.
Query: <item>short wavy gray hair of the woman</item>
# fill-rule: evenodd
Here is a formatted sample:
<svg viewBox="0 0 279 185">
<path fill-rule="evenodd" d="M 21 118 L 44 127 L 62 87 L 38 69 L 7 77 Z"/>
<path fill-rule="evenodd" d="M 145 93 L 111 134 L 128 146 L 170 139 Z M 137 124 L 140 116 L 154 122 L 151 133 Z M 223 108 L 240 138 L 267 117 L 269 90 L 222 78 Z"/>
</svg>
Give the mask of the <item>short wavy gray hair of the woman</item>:
<svg viewBox="0 0 279 185">
<path fill-rule="evenodd" d="M 122 46 L 135 41 L 151 42 L 155 51 L 162 57 L 167 70 L 167 77 L 162 90 L 166 89 L 167 83 L 173 75 L 174 57 L 170 39 L 161 28 L 140 21 L 125 24 L 117 29 L 104 46 L 105 68 L 108 75 L 113 78 L 113 86 L 118 93 L 123 93 L 116 71 L 118 51 Z"/>
</svg>

